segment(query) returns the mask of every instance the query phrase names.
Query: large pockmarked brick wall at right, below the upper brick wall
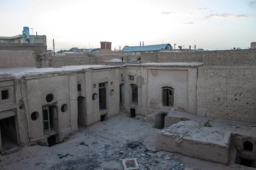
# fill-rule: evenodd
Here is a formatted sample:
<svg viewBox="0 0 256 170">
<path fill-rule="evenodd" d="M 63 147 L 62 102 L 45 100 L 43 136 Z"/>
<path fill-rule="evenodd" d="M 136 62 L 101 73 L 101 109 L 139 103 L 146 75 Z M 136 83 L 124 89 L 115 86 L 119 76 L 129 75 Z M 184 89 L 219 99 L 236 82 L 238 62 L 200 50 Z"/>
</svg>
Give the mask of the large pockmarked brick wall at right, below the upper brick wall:
<svg viewBox="0 0 256 170">
<path fill-rule="evenodd" d="M 197 101 L 199 116 L 256 122 L 256 67 L 199 67 Z"/>
</svg>

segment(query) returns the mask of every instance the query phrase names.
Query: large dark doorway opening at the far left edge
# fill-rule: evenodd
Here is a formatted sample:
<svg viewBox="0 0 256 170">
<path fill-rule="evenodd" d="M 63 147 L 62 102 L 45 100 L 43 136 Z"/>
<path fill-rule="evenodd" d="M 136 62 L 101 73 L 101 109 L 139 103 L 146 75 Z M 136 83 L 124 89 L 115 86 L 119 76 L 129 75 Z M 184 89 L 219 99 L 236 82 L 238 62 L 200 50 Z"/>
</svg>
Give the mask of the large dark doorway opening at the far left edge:
<svg viewBox="0 0 256 170">
<path fill-rule="evenodd" d="M 17 147 L 18 139 L 17 139 L 15 116 L 1 119 L 0 131 L 1 131 L 0 140 L 2 144 L 2 152 L 6 150 L 10 150 L 13 147 Z"/>
</svg>

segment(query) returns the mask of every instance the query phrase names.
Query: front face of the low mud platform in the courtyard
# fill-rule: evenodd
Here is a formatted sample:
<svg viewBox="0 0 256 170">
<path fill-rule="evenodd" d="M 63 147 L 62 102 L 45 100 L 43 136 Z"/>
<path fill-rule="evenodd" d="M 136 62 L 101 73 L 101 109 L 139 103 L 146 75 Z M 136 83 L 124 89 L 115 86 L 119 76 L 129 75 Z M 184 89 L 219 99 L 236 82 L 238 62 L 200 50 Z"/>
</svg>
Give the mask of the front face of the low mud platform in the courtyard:
<svg viewBox="0 0 256 170">
<path fill-rule="evenodd" d="M 229 162 L 229 143 L 231 133 L 227 133 L 226 144 L 203 141 L 181 134 L 167 133 L 165 130 L 157 134 L 157 150 L 180 153 L 189 157 L 213 161 L 222 164 Z"/>
</svg>

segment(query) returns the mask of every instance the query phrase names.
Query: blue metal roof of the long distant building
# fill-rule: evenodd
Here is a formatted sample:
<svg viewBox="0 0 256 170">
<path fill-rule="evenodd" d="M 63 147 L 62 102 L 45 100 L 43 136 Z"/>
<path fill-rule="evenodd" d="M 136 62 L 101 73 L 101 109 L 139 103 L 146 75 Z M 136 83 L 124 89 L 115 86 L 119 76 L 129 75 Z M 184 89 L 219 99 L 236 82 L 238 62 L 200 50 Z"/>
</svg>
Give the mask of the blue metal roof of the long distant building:
<svg viewBox="0 0 256 170">
<path fill-rule="evenodd" d="M 137 52 L 137 51 L 162 51 L 166 46 L 170 44 L 157 44 L 157 45 L 144 45 L 144 46 L 128 46 L 124 47 L 122 51 L 125 52 Z"/>
</svg>

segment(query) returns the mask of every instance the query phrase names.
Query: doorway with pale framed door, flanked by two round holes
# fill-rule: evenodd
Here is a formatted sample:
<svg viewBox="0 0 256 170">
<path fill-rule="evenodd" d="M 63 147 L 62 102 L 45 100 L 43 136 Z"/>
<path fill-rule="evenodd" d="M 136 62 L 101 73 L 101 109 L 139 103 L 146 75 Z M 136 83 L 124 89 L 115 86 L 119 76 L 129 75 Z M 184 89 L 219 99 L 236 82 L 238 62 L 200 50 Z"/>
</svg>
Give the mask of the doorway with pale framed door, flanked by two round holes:
<svg viewBox="0 0 256 170">
<path fill-rule="evenodd" d="M 58 132 L 58 109 L 51 105 L 43 107 L 44 134 Z"/>
</svg>

